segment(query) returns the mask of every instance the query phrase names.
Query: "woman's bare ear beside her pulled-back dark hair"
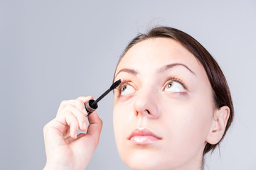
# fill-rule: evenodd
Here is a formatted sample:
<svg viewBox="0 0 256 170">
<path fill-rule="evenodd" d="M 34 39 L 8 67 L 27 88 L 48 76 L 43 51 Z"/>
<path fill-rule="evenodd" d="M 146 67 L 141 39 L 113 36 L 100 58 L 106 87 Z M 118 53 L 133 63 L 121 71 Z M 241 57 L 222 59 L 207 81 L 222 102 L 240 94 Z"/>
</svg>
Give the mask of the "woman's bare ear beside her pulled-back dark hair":
<svg viewBox="0 0 256 170">
<path fill-rule="evenodd" d="M 208 132 L 208 136 L 206 137 L 206 142 L 210 143 L 211 145 L 215 145 L 220 142 L 225 132 L 229 115 L 230 108 L 228 108 L 228 106 L 223 106 L 215 110 L 213 115 L 213 123 L 210 131 Z"/>
</svg>

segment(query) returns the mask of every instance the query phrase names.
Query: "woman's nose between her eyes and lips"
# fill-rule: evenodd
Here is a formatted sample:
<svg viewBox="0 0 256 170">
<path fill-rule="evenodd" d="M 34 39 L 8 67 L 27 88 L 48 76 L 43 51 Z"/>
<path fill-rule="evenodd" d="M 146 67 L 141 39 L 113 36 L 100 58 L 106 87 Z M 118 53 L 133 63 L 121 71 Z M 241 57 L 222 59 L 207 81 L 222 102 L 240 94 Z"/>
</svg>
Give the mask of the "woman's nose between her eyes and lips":
<svg viewBox="0 0 256 170">
<path fill-rule="evenodd" d="M 156 119 L 159 117 L 159 104 L 157 100 L 157 91 L 147 88 L 143 91 L 137 91 L 134 101 L 134 113 L 136 116 L 146 116 Z"/>
</svg>

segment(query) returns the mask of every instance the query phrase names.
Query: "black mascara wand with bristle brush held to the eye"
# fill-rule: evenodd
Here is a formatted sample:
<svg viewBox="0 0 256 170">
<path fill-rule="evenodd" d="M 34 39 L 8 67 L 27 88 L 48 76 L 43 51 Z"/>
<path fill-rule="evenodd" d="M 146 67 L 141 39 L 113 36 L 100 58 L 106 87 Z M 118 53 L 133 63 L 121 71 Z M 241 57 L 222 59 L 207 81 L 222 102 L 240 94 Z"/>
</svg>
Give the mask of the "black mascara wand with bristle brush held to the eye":
<svg viewBox="0 0 256 170">
<path fill-rule="evenodd" d="M 88 115 L 90 115 L 90 113 L 92 113 L 93 111 L 95 111 L 97 109 L 97 103 L 104 98 L 108 93 L 110 93 L 110 91 L 112 91 L 113 89 L 117 88 L 117 86 L 119 86 L 119 84 L 121 84 L 121 79 L 115 81 L 111 86 L 110 89 L 107 89 L 107 91 L 104 92 L 104 94 L 102 94 L 99 98 L 95 100 L 90 100 L 87 103 L 85 103 L 85 109 L 88 113 Z"/>
</svg>

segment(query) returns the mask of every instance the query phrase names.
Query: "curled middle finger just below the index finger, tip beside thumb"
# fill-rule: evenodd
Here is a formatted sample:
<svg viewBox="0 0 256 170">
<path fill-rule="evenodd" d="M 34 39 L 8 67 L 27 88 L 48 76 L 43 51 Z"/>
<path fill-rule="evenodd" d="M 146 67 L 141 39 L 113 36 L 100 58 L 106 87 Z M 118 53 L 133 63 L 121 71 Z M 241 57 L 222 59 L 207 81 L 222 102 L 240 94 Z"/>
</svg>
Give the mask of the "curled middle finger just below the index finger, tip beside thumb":
<svg viewBox="0 0 256 170">
<path fill-rule="evenodd" d="M 86 115 L 82 113 L 78 108 L 75 108 L 75 106 L 67 105 L 65 106 L 65 108 L 63 108 L 62 112 L 73 113 L 75 118 L 78 120 L 80 130 L 82 131 L 87 130 Z M 63 114 L 63 113 L 60 113 L 60 114 Z"/>
</svg>

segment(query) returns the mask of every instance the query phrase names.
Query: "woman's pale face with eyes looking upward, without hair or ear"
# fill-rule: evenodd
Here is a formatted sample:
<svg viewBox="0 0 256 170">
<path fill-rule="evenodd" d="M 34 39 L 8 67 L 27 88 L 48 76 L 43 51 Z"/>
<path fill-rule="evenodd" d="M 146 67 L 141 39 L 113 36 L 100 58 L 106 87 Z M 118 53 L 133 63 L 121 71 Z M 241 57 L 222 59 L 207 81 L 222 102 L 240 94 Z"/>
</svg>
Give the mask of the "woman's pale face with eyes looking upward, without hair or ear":
<svg viewBox="0 0 256 170">
<path fill-rule="evenodd" d="M 215 109 L 206 72 L 191 52 L 170 38 L 144 40 L 119 62 L 118 79 L 114 135 L 124 163 L 199 168 Z"/>
</svg>

